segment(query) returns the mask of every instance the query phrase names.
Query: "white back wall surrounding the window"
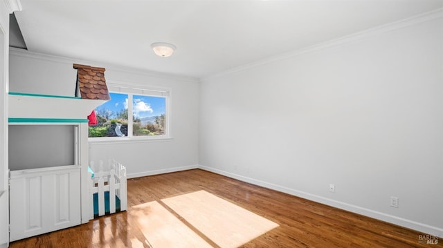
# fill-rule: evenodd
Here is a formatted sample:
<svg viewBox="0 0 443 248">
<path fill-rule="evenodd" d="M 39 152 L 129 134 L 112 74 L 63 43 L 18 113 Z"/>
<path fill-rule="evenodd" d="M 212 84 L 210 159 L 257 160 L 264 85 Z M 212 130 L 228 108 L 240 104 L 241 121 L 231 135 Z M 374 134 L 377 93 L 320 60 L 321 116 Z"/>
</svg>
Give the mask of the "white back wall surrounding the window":
<svg viewBox="0 0 443 248">
<path fill-rule="evenodd" d="M 199 98 L 197 79 L 11 49 L 10 91 L 73 96 L 77 73 L 73 69 L 73 63 L 105 67 L 105 78 L 109 83 L 166 87 L 172 90 L 171 140 L 90 142 L 90 160 L 114 158 L 127 166 L 128 177 L 197 167 Z"/>
</svg>

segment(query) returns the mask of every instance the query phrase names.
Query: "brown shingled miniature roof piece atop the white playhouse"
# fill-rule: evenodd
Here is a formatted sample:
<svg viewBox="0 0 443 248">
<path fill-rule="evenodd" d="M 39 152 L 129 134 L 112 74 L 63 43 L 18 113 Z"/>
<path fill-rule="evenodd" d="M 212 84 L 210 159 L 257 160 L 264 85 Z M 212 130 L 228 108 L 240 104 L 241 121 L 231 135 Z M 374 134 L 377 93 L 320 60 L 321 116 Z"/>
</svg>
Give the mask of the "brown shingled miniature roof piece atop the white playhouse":
<svg viewBox="0 0 443 248">
<path fill-rule="evenodd" d="M 105 68 L 74 64 L 74 69 L 77 69 L 77 84 L 82 99 L 111 99 L 106 86 Z"/>
</svg>

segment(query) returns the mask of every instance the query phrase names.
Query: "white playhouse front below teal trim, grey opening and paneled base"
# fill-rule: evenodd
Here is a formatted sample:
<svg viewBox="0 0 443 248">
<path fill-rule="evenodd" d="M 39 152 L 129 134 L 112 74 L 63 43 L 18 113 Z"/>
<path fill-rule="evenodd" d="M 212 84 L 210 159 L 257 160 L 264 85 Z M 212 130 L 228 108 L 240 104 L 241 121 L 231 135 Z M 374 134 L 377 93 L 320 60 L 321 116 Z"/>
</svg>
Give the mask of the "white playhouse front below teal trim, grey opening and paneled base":
<svg viewBox="0 0 443 248">
<path fill-rule="evenodd" d="M 8 128 L 10 241 L 82 222 L 80 124 L 23 121 Z"/>
</svg>

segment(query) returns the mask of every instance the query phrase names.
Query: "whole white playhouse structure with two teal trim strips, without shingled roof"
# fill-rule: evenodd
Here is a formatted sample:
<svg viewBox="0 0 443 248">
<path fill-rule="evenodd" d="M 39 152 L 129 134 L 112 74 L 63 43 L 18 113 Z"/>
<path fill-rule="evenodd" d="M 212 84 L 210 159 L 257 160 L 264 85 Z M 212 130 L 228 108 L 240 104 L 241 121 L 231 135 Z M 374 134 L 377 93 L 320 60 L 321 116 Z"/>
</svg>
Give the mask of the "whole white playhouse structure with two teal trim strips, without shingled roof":
<svg viewBox="0 0 443 248">
<path fill-rule="evenodd" d="M 10 241 L 89 221 L 87 116 L 103 102 L 8 94 Z"/>
</svg>

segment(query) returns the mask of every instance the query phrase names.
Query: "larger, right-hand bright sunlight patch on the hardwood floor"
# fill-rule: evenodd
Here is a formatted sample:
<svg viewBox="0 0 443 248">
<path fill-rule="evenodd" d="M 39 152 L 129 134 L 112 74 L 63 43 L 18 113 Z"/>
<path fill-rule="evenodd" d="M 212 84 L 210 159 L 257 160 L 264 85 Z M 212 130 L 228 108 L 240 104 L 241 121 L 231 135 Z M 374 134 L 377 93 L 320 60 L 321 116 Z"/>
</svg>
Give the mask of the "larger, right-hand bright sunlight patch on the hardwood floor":
<svg viewBox="0 0 443 248">
<path fill-rule="evenodd" d="M 239 247 L 278 224 L 208 193 L 196 191 L 162 202 L 220 247 Z"/>
</svg>

